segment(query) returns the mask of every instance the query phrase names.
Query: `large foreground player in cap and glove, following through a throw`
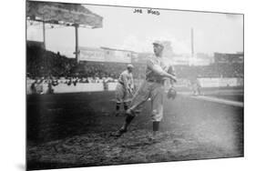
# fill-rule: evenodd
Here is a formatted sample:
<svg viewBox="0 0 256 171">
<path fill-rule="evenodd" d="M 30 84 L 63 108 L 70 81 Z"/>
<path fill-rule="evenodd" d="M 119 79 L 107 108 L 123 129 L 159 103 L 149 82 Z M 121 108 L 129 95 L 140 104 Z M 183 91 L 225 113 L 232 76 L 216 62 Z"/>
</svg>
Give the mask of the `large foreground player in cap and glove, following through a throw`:
<svg viewBox="0 0 256 171">
<path fill-rule="evenodd" d="M 151 99 L 151 119 L 153 122 L 152 139 L 157 136 L 159 122 L 163 117 L 163 99 L 165 80 L 176 81 L 176 76 L 169 72 L 169 66 L 162 58 L 164 45 L 160 41 L 153 43 L 154 56 L 147 60 L 146 79 L 139 86 L 138 91 L 132 98 L 130 106 L 126 111 L 126 120 L 123 126 L 115 133 L 115 136 L 122 136 L 128 130 L 128 125 L 136 116 L 138 107 Z"/>
</svg>

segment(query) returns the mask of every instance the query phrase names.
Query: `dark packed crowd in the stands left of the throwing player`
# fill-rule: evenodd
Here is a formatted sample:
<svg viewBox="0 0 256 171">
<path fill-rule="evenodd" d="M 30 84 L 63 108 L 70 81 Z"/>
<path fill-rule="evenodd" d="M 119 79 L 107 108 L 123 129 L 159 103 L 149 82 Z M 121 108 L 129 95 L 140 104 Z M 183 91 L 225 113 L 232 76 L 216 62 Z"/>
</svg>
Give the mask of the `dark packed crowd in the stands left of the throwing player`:
<svg viewBox="0 0 256 171">
<path fill-rule="evenodd" d="M 79 77 L 82 80 L 89 79 L 92 82 L 97 78 L 118 79 L 119 74 L 126 69 L 128 64 L 124 63 L 103 63 L 103 62 L 81 62 L 77 64 L 74 58 L 67 58 L 65 55 L 46 51 L 40 46 L 27 46 L 26 73 L 32 79 L 36 76 L 56 77 Z M 146 66 L 136 65 L 134 76 L 144 74 Z"/>
</svg>

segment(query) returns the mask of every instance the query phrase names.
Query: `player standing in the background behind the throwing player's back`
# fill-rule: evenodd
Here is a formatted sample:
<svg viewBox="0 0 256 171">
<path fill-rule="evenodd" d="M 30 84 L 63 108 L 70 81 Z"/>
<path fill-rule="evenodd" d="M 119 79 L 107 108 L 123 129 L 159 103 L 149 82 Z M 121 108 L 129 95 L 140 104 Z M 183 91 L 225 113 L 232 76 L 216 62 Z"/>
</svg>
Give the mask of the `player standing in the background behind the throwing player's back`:
<svg viewBox="0 0 256 171">
<path fill-rule="evenodd" d="M 116 116 L 120 115 L 120 106 L 124 104 L 124 109 L 128 109 L 128 103 L 131 100 L 134 82 L 132 75 L 133 65 L 128 65 L 127 69 L 123 71 L 118 78 L 118 85 L 116 87 Z"/>
</svg>

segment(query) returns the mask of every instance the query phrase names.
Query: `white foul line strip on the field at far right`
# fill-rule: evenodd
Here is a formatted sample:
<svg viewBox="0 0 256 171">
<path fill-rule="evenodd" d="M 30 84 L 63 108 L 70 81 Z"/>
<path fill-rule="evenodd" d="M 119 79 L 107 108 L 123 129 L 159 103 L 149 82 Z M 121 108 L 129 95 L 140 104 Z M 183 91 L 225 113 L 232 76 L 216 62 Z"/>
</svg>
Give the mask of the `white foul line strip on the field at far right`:
<svg viewBox="0 0 256 171">
<path fill-rule="evenodd" d="M 225 105 L 230 105 L 230 106 L 240 106 L 243 107 L 242 102 L 236 102 L 236 101 L 231 101 L 231 100 L 226 100 L 226 99 L 220 99 L 217 97 L 212 97 L 212 96 L 191 96 L 192 98 L 197 98 L 200 100 L 206 100 L 210 102 L 216 102 L 220 104 L 225 104 Z"/>
</svg>

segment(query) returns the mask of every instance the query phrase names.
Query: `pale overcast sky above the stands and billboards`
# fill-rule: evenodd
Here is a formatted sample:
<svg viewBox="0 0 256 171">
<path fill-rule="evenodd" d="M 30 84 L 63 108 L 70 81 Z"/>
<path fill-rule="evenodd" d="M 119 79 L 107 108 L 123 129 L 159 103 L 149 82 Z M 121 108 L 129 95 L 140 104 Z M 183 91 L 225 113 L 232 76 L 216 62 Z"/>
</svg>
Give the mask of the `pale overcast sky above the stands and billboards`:
<svg viewBox="0 0 256 171">
<path fill-rule="evenodd" d="M 79 46 L 152 52 L 155 40 L 170 41 L 174 53 L 189 54 L 190 30 L 194 30 L 194 52 L 213 54 L 243 52 L 243 16 L 147 8 L 84 5 L 103 16 L 103 27 L 79 28 Z M 134 13 L 142 9 L 142 14 Z M 72 56 L 75 51 L 75 28 L 46 26 L 46 48 Z M 27 26 L 28 40 L 43 40 L 42 25 Z M 74 55 L 73 55 L 74 57 Z"/>
</svg>

